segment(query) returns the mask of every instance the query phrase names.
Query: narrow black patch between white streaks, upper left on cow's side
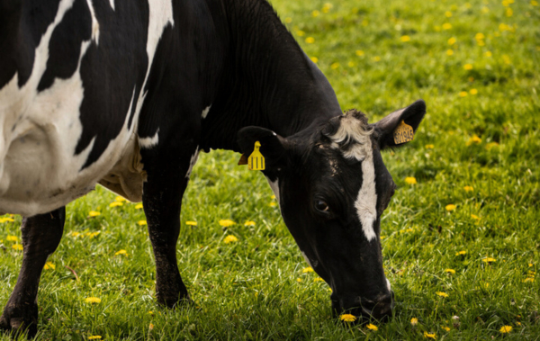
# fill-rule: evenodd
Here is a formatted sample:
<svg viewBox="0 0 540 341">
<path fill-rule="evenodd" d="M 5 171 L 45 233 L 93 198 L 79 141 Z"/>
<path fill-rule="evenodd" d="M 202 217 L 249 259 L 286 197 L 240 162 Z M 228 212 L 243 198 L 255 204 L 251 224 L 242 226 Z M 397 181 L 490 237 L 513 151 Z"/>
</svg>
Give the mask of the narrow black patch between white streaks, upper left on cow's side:
<svg viewBox="0 0 540 341">
<path fill-rule="evenodd" d="M 81 44 L 90 40 L 92 17 L 85 0 L 76 0 L 62 22 L 52 32 L 49 41 L 47 69 L 41 76 L 38 91 L 49 88 L 55 78 L 67 79 L 73 76 L 78 66 Z"/>
</svg>

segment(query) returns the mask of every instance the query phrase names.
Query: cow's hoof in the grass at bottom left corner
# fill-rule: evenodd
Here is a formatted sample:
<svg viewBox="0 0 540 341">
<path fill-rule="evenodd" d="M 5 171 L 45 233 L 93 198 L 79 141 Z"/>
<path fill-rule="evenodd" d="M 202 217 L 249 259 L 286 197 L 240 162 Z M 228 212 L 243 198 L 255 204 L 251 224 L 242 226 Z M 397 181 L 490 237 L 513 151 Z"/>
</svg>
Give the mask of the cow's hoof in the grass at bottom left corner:
<svg viewBox="0 0 540 341">
<path fill-rule="evenodd" d="M 14 339 L 22 335 L 33 338 L 38 333 L 38 306 L 27 307 L 27 310 L 6 307 L 0 317 L 0 330 L 9 332 Z"/>
</svg>

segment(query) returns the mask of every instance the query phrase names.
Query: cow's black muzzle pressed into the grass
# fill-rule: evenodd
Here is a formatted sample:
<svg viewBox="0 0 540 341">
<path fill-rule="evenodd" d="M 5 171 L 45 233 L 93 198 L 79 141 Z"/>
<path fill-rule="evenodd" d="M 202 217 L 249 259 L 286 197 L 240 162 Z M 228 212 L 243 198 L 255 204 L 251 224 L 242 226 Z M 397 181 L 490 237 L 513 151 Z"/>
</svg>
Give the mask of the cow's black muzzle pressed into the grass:
<svg viewBox="0 0 540 341">
<path fill-rule="evenodd" d="M 339 318 L 343 314 L 351 314 L 356 317 L 354 323 L 365 323 L 373 319 L 387 321 L 392 316 L 395 306 L 393 298 L 393 292 L 379 298 L 378 302 L 363 299 L 360 296 L 339 298 L 335 293 L 330 296 L 334 317 Z"/>
</svg>

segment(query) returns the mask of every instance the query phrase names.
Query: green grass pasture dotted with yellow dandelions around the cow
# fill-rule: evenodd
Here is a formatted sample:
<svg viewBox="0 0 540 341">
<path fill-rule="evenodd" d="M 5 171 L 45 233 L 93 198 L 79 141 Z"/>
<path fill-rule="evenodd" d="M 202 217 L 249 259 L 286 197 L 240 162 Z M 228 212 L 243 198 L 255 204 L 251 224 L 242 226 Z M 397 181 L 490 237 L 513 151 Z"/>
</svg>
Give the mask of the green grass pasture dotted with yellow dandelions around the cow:
<svg viewBox="0 0 540 341">
<path fill-rule="evenodd" d="M 193 170 L 178 241 L 195 305 L 157 306 L 144 213 L 110 207 L 98 187 L 67 207 L 41 276 L 38 339 L 540 339 L 538 3 L 273 1 L 344 110 L 374 122 L 428 104 L 415 140 L 383 155 L 399 186 L 381 237 L 390 322 L 332 319 L 329 286 L 304 272 L 264 177 L 213 151 Z M 22 263 L 13 218 L 0 223 L 2 307 Z"/>
</svg>

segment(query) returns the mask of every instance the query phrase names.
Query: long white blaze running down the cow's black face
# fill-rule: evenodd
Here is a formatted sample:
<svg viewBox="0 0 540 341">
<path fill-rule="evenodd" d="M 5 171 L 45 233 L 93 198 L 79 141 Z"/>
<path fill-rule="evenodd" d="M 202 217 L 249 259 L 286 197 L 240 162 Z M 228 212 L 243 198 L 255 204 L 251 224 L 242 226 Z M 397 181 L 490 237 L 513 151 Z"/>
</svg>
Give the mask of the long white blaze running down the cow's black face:
<svg viewBox="0 0 540 341">
<path fill-rule="evenodd" d="M 375 235 L 374 221 L 377 219 L 377 193 L 375 192 L 374 152 L 371 140 L 365 141 L 366 154 L 362 161 L 362 187 L 358 192 L 355 207 L 367 241 Z"/>
</svg>

